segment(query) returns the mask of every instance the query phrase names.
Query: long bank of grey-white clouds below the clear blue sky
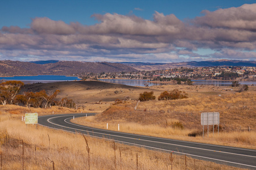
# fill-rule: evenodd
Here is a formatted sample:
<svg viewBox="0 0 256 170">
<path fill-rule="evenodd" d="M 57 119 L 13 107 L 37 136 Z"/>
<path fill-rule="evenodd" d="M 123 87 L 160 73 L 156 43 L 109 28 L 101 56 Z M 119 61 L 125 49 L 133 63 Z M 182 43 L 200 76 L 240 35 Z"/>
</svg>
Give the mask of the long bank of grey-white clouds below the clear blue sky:
<svg viewBox="0 0 256 170">
<path fill-rule="evenodd" d="M 203 11 L 203 16 L 186 22 L 157 11 L 152 20 L 106 13 L 93 15 L 99 21 L 94 25 L 35 18 L 30 28 L 2 27 L 0 53 L 2 58 L 20 59 L 32 55 L 38 59 L 146 62 L 255 60 L 255 53 L 250 52 L 256 50 L 255 11 L 256 4 Z M 219 52 L 200 55 L 200 48 Z"/>
</svg>

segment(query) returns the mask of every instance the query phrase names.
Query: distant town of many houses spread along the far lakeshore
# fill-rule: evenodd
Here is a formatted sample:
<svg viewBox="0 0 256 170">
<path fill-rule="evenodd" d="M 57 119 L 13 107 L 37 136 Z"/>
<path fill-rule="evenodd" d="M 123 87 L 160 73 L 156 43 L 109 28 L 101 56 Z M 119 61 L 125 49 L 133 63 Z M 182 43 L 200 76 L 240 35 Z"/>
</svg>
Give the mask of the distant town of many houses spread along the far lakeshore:
<svg viewBox="0 0 256 170">
<path fill-rule="evenodd" d="M 177 67 L 168 70 L 134 71 L 121 73 L 85 73 L 82 79 L 149 79 L 167 82 L 174 79 L 204 79 L 204 80 L 256 80 L 256 67 L 216 66 L 216 67 Z"/>
</svg>

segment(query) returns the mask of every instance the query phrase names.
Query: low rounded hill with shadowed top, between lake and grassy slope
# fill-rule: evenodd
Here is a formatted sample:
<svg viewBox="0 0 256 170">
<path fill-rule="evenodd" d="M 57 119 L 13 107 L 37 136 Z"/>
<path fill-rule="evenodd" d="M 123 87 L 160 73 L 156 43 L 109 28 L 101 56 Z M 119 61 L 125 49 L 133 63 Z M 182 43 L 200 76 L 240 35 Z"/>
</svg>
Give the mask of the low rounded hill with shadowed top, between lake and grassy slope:
<svg viewBox="0 0 256 170">
<path fill-rule="evenodd" d="M 26 91 L 39 92 L 41 90 L 60 90 L 57 98 L 67 97 L 79 104 L 98 101 L 115 101 L 115 99 L 138 99 L 140 93 L 150 91 L 147 88 L 126 86 L 100 81 L 71 81 L 53 83 L 25 84 L 20 94 Z"/>
</svg>

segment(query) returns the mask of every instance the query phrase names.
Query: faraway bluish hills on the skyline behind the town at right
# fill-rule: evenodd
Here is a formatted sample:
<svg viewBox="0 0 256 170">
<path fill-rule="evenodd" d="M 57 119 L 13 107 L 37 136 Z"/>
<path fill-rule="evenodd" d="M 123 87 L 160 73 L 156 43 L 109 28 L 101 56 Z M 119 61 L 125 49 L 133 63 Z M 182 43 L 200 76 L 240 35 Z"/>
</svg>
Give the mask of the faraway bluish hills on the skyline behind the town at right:
<svg viewBox="0 0 256 170">
<path fill-rule="evenodd" d="M 217 61 L 190 61 L 174 63 L 143 63 L 143 62 L 122 62 L 137 70 L 163 70 L 173 69 L 175 67 L 213 67 L 213 66 L 247 66 L 256 67 L 256 61 L 240 61 L 221 59 Z"/>
</svg>

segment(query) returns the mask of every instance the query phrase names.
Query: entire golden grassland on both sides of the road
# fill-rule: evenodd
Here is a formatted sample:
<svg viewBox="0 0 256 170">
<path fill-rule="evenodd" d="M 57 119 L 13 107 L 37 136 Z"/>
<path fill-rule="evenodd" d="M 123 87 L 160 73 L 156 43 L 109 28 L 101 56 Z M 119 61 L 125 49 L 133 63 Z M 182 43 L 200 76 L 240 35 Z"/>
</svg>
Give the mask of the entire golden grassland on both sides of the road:
<svg viewBox="0 0 256 170">
<path fill-rule="evenodd" d="M 109 130 L 117 130 L 120 124 L 120 130 L 129 133 L 256 148 L 256 87 L 250 86 L 249 91 L 239 93 L 238 88 L 234 88 L 233 91 L 222 91 L 222 87 L 214 86 L 164 85 L 132 90 L 129 86 L 104 84 L 105 87 L 103 87 L 102 84 L 97 86 L 92 84 L 90 86 L 85 83 L 77 84 L 77 82 L 54 84 L 55 88 L 61 90 L 57 97 L 72 95 L 72 99 L 77 100 L 79 105 L 77 109 L 0 105 L 2 169 L 22 169 L 23 162 L 24 169 L 52 169 L 53 163 L 55 169 L 89 169 L 84 137 L 81 134 L 52 130 L 42 126 L 24 125 L 21 121 L 24 113 L 35 112 L 39 116 L 52 114 L 52 112 L 54 114 L 98 113 L 97 116 L 75 118 L 74 121 L 102 129 L 106 129 L 106 123 L 108 123 Z M 43 87 L 51 89 L 54 86 L 47 83 L 36 88 L 42 90 Z M 174 89 L 185 91 L 188 99 L 140 102 L 137 111 L 134 111 L 140 93 L 154 91 L 157 99 L 161 92 Z M 115 94 L 114 91 L 117 90 L 119 92 Z M 131 100 L 113 105 L 115 99 L 122 100 L 127 96 Z M 99 103 L 100 100 L 101 103 Z M 215 132 L 213 136 L 210 132 L 209 138 L 207 134 L 204 139 L 200 135 L 188 137 L 189 133 L 202 131 L 201 112 L 220 112 L 222 127 L 220 135 Z M 247 131 L 248 126 L 250 126 L 250 132 Z M 114 152 L 113 141 L 85 137 L 90 148 L 90 169 L 137 169 L 136 154 L 138 154 L 138 169 L 171 169 L 171 164 L 172 169 L 185 169 L 184 155 L 173 154 L 174 160 L 171 163 L 170 153 L 150 151 L 119 143 L 115 143 L 117 150 Z M 115 159 L 116 163 L 114 163 Z M 187 169 L 238 168 L 187 157 Z"/>
</svg>

